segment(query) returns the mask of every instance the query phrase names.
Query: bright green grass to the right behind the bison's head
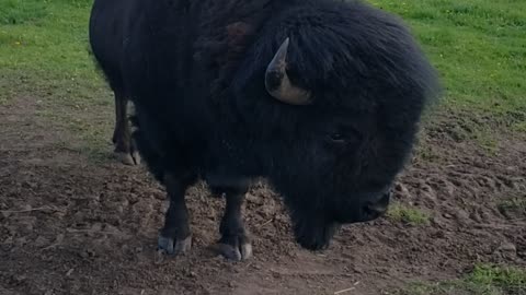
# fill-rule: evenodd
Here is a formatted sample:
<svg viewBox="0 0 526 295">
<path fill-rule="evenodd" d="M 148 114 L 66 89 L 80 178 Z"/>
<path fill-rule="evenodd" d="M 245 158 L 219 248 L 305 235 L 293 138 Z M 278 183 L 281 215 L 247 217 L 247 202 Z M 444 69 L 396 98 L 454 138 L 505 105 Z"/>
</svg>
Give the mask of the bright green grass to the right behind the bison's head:
<svg viewBox="0 0 526 295">
<path fill-rule="evenodd" d="M 447 104 L 524 118 L 526 1 L 371 2 L 410 24 L 443 78 Z"/>
</svg>

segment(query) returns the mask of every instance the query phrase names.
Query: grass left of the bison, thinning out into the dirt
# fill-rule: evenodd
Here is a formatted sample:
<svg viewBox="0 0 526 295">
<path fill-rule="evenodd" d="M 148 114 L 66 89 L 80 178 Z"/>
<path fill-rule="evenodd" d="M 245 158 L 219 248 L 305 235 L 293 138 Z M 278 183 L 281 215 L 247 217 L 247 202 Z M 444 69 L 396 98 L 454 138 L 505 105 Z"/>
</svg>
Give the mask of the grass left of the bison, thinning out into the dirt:
<svg viewBox="0 0 526 295">
<path fill-rule="evenodd" d="M 4 0 L 0 4 L 0 105 L 38 97 L 38 114 L 70 129 L 79 151 L 107 157 L 113 98 L 88 43 L 89 0 Z M 101 115 L 93 121 L 76 109 Z"/>
</svg>

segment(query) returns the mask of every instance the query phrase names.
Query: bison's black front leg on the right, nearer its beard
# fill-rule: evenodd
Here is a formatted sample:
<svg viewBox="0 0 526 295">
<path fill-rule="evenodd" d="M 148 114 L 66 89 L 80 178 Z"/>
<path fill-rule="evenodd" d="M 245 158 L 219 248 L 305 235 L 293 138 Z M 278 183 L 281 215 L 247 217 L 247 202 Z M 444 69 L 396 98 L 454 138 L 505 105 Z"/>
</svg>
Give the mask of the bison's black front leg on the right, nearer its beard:
<svg viewBox="0 0 526 295">
<path fill-rule="evenodd" d="M 220 253 L 231 260 L 250 258 L 252 245 L 241 216 L 241 206 L 248 188 L 215 188 L 214 190 L 225 192 L 227 199 L 225 214 L 219 226 L 221 239 L 218 249 Z"/>
</svg>

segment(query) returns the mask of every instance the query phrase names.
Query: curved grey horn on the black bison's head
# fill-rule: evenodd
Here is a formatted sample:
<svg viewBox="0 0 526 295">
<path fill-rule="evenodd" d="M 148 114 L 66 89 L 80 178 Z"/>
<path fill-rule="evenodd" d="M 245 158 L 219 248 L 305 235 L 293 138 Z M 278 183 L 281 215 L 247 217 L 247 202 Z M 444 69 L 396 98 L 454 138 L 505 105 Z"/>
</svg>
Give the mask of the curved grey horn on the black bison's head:
<svg viewBox="0 0 526 295">
<path fill-rule="evenodd" d="M 266 91 L 283 103 L 308 105 L 311 103 L 310 91 L 294 86 L 286 72 L 288 43 L 289 39 L 286 38 L 266 68 Z"/>
</svg>

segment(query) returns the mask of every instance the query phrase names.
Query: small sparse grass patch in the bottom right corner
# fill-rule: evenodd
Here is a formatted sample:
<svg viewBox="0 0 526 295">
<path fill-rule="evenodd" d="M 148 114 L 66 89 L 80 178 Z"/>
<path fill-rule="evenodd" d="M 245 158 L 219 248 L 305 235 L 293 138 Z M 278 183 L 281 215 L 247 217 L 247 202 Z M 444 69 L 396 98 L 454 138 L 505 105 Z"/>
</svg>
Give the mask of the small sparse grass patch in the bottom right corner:
<svg viewBox="0 0 526 295">
<path fill-rule="evenodd" d="M 515 295 L 526 294 L 526 270 L 494 264 L 477 264 L 461 280 L 413 283 L 396 295 Z"/>
</svg>

